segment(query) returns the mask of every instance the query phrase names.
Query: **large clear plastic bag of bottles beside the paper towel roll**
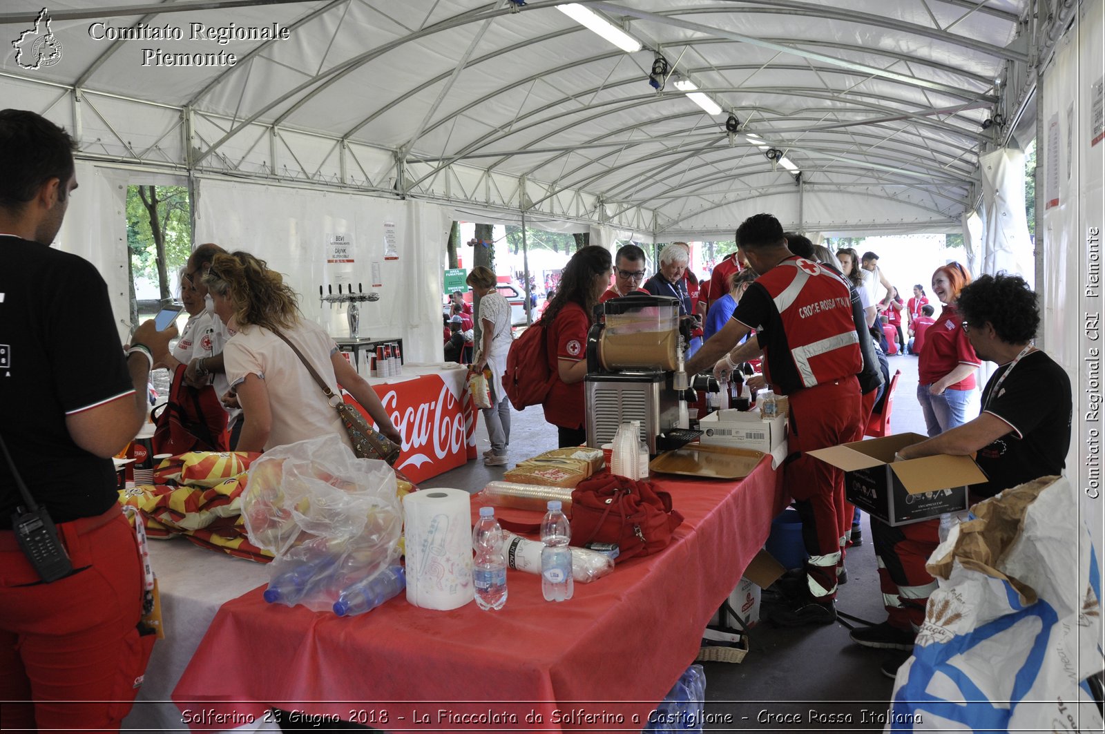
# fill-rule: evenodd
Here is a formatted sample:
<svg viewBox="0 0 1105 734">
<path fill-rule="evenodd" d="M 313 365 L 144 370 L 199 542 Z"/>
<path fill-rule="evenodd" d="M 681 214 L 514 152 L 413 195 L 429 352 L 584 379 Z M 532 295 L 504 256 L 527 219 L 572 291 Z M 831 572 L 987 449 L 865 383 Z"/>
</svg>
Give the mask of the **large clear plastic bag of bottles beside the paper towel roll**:
<svg viewBox="0 0 1105 734">
<path fill-rule="evenodd" d="M 341 590 L 399 557 L 396 475 L 332 437 L 277 447 L 250 468 L 242 515 L 275 554 L 265 598 L 332 609 Z"/>
</svg>

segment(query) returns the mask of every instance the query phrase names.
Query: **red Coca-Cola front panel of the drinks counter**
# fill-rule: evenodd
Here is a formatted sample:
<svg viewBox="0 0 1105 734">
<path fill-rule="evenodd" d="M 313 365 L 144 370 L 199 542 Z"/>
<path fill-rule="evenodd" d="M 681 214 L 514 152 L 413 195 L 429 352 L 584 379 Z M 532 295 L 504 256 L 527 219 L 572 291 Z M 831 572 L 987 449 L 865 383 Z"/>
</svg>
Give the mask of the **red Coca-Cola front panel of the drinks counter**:
<svg viewBox="0 0 1105 734">
<path fill-rule="evenodd" d="M 444 375 L 420 375 L 401 382 L 372 386 L 403 437 L 403 451 L 396 468 L 414 483 L 476 457 L 476 412 L 464 385 L 464 374 L 450 370 Z M 348 395 L 345 399 L 356 405 Z M 371 421 L 368 413 L 365 417 Z"/>
</svg>

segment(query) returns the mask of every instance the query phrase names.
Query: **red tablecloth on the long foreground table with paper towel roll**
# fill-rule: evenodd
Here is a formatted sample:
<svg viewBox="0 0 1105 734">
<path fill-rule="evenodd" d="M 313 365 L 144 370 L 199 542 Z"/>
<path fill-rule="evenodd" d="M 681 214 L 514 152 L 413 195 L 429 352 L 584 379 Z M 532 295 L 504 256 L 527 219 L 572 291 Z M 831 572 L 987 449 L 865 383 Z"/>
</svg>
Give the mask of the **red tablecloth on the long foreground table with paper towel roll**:
<svg viewBox="0 0 1105 734">
<path fill-rule="evenodd" d="M 260 720 L 272 705 L 387 731 L 639 732 L 786 504 L 770 458 L 736 486 L 659 484 L 685 517 L 672 545 L 577 584 L 567 602 L 545 601 L 539 576 L 513 570 L 498 612 L 420 609 L 400 595 L 340 619 L 266 605 L 259 588 L 219 610 L 172 699 L 213 712 L 193 728 Z"/>
</svg>

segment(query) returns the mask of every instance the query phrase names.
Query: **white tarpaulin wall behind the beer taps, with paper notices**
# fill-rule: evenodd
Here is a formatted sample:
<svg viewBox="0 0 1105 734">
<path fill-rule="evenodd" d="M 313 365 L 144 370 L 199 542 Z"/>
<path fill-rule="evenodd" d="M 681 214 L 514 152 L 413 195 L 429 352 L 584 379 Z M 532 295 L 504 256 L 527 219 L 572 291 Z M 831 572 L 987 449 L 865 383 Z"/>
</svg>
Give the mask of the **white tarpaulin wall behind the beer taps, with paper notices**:
<svg viewBox="0 0 1105 734">
<path fill-rule="evenodd" d="M 318 287 L 337 294 L 339 283 L 343 291 L 361 283 L 380 294 L 360 304 L 361 337 L 401 338 L 408 361 L 442 359 L 441 274 L 451 222 L 441 207 L 213 178 L 200 178 L 197 189 L 196 241 L 266 260 L 299 294 L 304 315 L 330 336 L 348 336 L 346 306 L 319 304 Z M 392 231 L 396 259 L 388 252 Z M 332 256 L 334 235 L 344 237 L 351 256 Z"/>
</svg>

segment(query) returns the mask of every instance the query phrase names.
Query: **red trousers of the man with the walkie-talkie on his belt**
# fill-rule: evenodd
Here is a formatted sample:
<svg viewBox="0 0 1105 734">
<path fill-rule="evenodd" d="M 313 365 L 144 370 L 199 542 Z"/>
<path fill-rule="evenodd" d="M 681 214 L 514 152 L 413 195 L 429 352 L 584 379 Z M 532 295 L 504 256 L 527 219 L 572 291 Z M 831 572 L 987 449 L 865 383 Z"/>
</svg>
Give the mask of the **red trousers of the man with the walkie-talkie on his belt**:
<svg viewBox="0 0 1105 734">
<path fill-rule="evenodd" d="M 118 506 L 57 529 L 76 573 L 53 584 L 0 532 L 0 730 L 117 732 L 154 646 L 135 533 Z"/>
</svg>

